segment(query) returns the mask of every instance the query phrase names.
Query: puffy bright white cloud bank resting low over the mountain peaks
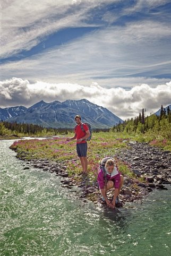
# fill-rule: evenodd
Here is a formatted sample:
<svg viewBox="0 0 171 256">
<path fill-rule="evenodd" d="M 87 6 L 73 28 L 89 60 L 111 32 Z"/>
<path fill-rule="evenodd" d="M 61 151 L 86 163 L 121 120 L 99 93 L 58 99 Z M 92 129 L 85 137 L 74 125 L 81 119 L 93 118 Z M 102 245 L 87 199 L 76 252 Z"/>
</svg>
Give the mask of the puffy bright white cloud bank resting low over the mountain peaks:
<svg viewBox="0 0 171 256">
<path fill-rule="evenodd" d="M 108 108 L 115 115 L 125 119 L 139 115 L 142 108 L 147 114 L 156 112 L 161 104 L 171 104 L 171 82 L 151 88 L 148 84 L 135 86 L 130 90 L 123 88 L 102 88 L 97 83 L 89 86 L 79 84 L 50 84 L 38 81 L 12 78 L 0 83 L 1 107 L 23 105 L 30 107 L 40 100 L 52 102 L 66 99 L 86 98 L 94 104 Z"/>
</svg>

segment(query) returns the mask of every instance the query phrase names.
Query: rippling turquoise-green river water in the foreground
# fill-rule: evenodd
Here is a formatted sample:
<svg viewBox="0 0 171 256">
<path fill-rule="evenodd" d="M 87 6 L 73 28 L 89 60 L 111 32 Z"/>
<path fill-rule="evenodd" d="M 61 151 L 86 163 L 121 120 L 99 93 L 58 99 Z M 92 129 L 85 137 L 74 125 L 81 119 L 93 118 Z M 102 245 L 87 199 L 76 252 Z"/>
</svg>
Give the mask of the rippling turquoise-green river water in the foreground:
<svg viewBox="0 0 171 256">
<path fill-rule="evenodd" d="M 23 170 L 0 141 L 0 255 L 171 255 L 171 186 L 143 204 L 84 204 L 40 169 Z"/>
</svg>

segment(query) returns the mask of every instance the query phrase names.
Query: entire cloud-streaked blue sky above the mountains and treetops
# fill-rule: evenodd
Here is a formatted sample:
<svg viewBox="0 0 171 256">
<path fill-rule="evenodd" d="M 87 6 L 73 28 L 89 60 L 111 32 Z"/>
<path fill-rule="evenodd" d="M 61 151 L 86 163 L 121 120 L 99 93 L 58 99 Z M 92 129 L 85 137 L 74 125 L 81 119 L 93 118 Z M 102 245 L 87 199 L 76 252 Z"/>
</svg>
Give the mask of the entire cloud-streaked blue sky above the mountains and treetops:
<svg viewBox="0 0 171 256">
<path fill-rule="evenodd" d="M 87 99 L 123 120 L 171 104 L 171 1 L 0 0 L 0 107 Z"/>
</svg>

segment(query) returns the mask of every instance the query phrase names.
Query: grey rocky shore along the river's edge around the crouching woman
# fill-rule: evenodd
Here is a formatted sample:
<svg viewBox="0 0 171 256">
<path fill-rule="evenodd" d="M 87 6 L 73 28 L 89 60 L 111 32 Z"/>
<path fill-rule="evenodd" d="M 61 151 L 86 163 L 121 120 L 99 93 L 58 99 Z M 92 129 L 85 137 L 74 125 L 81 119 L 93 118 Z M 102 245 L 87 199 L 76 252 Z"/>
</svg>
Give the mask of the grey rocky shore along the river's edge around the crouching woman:
<svg viewBox="0 0 171 256">
<path fill-rule="evenodd" d="M 152 190 L 166 190 L 165 184 L 171 185 L 170 151 L 163 151 L 148 143 L 128 142 L 127 144 L 129 148 L 117 150 L 114 157 L 129 165 L 135 178 L 124 176 L 124 185 L 119 194 L 120 202 L 117 207 L 124 206 L 126 202 L 142 202 Z M 76 193 L 84 202 L 91 200 L 95 204 L 103 204 L 97 183 L 90 178 L 83 178 L 82 175 L 69 177 L 65 162 L 56 163 L 48 159 L 25 161 L 24 169 L 29 169 L 30 166 L 55 173 L 61 177 L 62 186 Z M 108 198 L 111 199 L 113 194 L 114 191 L 110 190 L 107 193 Z"/>
</svg>

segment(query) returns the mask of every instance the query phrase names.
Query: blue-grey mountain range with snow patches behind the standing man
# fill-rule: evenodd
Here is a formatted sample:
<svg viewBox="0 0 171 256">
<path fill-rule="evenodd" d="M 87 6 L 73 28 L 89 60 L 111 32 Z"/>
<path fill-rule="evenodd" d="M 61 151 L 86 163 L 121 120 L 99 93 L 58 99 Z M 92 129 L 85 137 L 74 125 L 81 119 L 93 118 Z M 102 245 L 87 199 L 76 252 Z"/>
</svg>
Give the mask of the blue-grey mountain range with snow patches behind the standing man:
<svg viewBox="0 0 171 256">
<path fill-rule="evenodd" d="M 32 123 L 44 127 L 73 127 L 74 116 L 80 115 L 81 121 L 90 123 L 92 128 L 108 128 L 123 122 L 107 108 L 91 103 L 87 99 L 53 101 L 41 100 L 33 106 L 0 108 L 0 120 L 17 123 Z"/>
</svg>

